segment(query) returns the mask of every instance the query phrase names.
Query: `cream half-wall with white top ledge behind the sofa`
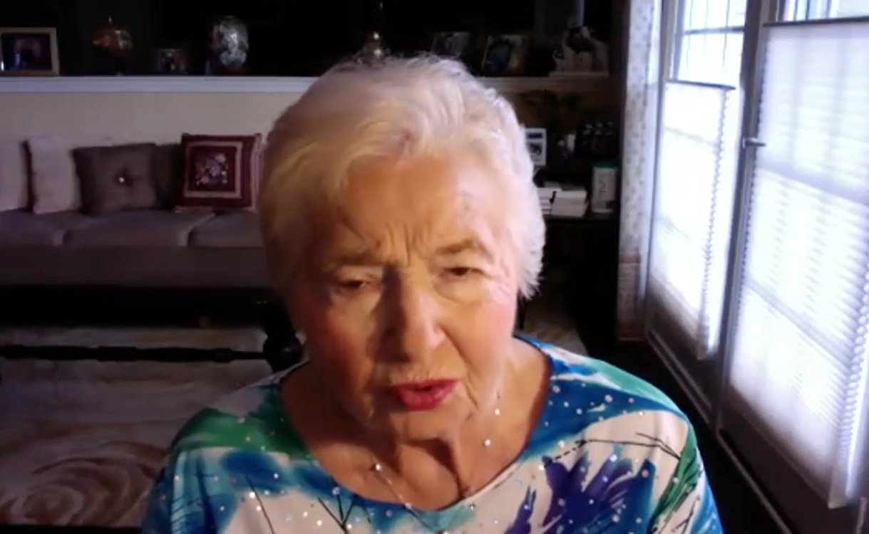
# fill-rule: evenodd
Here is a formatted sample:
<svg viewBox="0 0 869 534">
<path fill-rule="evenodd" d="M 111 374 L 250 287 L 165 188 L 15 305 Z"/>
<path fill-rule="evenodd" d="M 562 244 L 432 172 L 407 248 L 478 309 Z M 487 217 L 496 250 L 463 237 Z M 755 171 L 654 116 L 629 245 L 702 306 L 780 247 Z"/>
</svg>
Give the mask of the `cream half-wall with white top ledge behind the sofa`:
<svg viewBox="0 0 869 534">
<path fill-rule="evenodd" d="M 612 106 L 618 90 L 604 74 L 481 78 L 517 102 L 533 89 L 580 92 Z M 0 77 L 0 139 L 59 135 L 72 146 L 178 142 L 182 133 L 252 134 L 271 129 L 315 78 L 218 76 Z"/>
</svg>

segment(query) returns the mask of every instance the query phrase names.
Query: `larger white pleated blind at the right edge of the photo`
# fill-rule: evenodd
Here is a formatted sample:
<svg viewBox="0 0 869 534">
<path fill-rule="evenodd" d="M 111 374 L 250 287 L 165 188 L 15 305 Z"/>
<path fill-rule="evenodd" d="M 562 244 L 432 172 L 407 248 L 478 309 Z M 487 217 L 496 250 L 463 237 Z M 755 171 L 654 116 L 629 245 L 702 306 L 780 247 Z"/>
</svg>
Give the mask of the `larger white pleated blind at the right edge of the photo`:
<svg viewBox="0 0 869 534">
<path fill-rule="evenodd" d="M 730 394 L 836 507 L 869 453 L 869 22 L 766 31 Z"/>
</svg>

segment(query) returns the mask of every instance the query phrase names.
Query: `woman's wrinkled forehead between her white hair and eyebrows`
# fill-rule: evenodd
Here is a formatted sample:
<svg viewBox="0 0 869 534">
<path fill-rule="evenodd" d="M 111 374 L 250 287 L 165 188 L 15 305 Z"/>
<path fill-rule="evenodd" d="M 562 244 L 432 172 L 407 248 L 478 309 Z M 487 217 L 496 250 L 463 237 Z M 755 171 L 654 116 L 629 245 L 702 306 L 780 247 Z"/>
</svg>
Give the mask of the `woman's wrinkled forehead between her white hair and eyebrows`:
<svg viewBox="0 0 869 534">
<path fill-rule="evenodd" d="M 397 261 L 450 247 L 500 255 L 507 214 L 491 172 L 458 155 L 355 165 L 319 218 L 309 252 L 320 259 L 374 254 Z"/>
</svg>

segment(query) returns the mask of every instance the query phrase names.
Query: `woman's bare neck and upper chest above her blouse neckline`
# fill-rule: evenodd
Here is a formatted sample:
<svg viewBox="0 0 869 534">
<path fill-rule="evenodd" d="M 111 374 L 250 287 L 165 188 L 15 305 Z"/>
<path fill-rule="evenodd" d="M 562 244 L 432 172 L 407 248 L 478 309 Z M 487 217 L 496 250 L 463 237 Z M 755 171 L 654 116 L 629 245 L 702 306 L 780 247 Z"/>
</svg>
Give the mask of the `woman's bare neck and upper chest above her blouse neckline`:
<svg viewBox="0 0 869 534">
<path fill-rule="evenodd" d="M 547 363 L 534 347 L 516 343 L 520 352 L 503 372 L 501 394 L 493 394 L 448 435 L 408 442 L 362 425 L 337 399 L 322 399 L 314 366 L 296 372 L 284 388 L 293 392 L 290 417 L 308 450 L 351 491 L 421 509 L 442 508 L 488 484 L 521 453 L 534 428 L 545 398 Z M 294 412 L 304 416 L 293 417 Z M 378 485 L 373 495 L 356 487 Z"/>
</svg>

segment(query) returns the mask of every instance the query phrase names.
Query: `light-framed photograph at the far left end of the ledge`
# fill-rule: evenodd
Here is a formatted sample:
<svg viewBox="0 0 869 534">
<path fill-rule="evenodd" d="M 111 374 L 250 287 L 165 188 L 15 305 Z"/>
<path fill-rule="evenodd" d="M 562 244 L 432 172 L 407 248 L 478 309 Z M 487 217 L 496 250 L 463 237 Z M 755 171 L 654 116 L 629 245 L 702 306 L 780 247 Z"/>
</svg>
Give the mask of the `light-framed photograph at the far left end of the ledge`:
<svg viewBox="0 0 869 534">
<path fill-rule="evenodd" d="M 57 30 L 0 28 L 0 75 L 60 76 Z"/>
</svg>

